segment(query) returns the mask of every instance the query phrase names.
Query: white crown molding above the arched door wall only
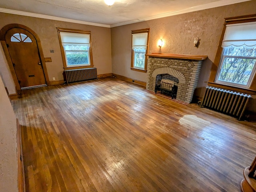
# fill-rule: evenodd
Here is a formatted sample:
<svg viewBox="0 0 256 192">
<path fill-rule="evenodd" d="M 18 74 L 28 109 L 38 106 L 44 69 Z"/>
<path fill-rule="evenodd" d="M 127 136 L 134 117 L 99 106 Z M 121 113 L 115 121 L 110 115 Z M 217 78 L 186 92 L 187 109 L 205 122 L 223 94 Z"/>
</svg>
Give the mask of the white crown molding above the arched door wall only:
<svg viewBox="0 0 256 192">
<path fill-rule="evenodd" d="M 80 21 L 80 20 L 74 20 L 74 19 L 66 19 L 66 18 L 61 18 L 61 17 L 54 17 L 54 16 L 42 15 L 42 14 L 37 14 L 37 13 L 29 13 L 29 12 L 23 12 L 23 11 L 17 11 L 17 10 L 10 10 L 10 9 L 4 9 L 4 8 L 0 8 L 0 12 L 10 13 L 10 14 L 15 14 L 15 15 L 30 16 L 30 17 L 36 17 L 36 18 L 42 18 L 42 19 L 50 19 L 50 20 L 64 21 L 64 22 L 70 22 L 70 23 L 78 23 L 78 24 L 84 24 L 84 25 L 93 25 L 93 26 L 98 26 L 98 27 L 110 28 L 110 25 L 106 25 L 106 24 L 92 23 L 92 22 L 86 22 L 86 21 Z"/>
</svg>

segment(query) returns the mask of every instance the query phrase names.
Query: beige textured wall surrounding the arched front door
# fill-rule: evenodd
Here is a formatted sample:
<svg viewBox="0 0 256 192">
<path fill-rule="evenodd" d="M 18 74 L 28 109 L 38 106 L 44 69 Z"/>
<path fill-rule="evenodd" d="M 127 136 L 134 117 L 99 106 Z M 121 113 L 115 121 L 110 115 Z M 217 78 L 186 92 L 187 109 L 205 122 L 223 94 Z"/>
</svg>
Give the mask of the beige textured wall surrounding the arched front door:
<svg viewBox="0 0 256 192">
<path fill-rule="evenodd" d="M 56 81 L 63 80 L 63 62 L 56 27 L 91 31 L 93 63 L 97 68 L 98 74 L 112 72 L 110 28 L 6 13 L 0 13 L 0 18 L 0 29 L 7 24 L 17 23 L 27 26 L 39 36 L 44 57 L 52 58 L 52 62 L 46 63 L 50 81 L 52 81 L 53 77 L 55 77 Z M 54 53 L 50 53 L 52 49 Z M 0 57 L 0 65 L 1 64 Z M 5 83 L 7 81 L 8 80 L 4 79 Z"/>
</svg>

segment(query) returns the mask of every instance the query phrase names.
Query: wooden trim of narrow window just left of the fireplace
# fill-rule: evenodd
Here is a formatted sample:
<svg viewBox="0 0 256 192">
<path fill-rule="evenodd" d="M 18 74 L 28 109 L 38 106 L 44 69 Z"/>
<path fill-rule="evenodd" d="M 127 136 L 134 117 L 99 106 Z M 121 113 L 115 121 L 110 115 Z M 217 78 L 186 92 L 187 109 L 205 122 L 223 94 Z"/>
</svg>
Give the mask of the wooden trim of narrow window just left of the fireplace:
<svg viewBox="0 0 256 192">
<path fill-rule="evenodd" d="M 146 49 L 146 52 L 145 52 L 145 64 L 144 64 L 144 68 L 136 68 L 136 67 L 134 67 L 134 50 L 132 50 L 131 70 L 139 71 L 139 72 L 144 72 L 144 73 L 147 72 L 147 60 L 148 60 L 148 56 L 146 56 L 146 54 L 148 54 L 149 31 L 150 31 L 150 28 L 132 30 L 132 34 L 148 33 L 148 39 L 147 39 L 147 49 Z M 132 45 L 132 43 L 131 43 L 131 45 Z"/>
</svg>

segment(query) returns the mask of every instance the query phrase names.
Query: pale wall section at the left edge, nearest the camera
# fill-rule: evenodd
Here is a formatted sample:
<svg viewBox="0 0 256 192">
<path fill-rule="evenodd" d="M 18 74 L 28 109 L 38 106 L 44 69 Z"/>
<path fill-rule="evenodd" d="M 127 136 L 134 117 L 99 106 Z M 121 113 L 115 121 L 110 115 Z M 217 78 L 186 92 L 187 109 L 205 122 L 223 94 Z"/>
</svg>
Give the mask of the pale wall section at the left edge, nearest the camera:
<svg viewBox="0 0 256 192">
<path fill-rule="evenodd" d="M 0 77 L 0 191 L 18 191 L 16 117 Z"/>
</svg>

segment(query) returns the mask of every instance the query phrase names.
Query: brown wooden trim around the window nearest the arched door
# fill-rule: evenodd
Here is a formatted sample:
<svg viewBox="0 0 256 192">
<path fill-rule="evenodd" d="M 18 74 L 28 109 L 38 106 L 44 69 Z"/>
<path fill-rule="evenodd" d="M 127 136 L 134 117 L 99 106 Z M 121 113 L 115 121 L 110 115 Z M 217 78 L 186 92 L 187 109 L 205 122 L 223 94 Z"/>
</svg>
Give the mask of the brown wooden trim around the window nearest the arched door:
<svg viewBox="0 0 256 192">
<path fill-rule="evenodd" d="M 67 29 L 67 28 L 57 28 L 58 31 L 58 37 L 60 42 L 60 51 L 62 55 L 62 62 L 63 62 L 63 68 L 65 69 L 81 69 L 81 68 L 91 68 L 93 67 L 93 60 L 92 60 L 92 46 L 89 47 L 89 65 L 82 65 L 82 66 L 67 66 L 66 62 L 66 52 L 64 50 L 64 47 L 62 46 L 61 38 L 60 38 L 60 32 L 67 32 L 67 33 L 78 33 L 78 34 L 89 34 L 90 35 L 90 44 L 92 43 L 92 37 L 90 31 L 84 31 L 84 30 L 75 30 L 75 29 Z M 91 44 L 92 45 L 92 44 Z"/>
</svg>

